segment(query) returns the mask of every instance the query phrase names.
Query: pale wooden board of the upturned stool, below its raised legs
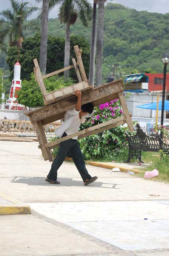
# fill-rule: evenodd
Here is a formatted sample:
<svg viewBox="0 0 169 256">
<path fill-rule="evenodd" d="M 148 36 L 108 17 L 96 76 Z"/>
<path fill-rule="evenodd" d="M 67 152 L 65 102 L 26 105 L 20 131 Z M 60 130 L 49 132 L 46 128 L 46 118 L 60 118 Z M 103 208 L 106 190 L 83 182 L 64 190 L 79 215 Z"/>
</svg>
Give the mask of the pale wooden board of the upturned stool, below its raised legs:
<svg viewBox="0 0 169 256">
<path fill-rule="evenodd" d="M 46 103 L 51 100 L 57 101 L 61 97 L 66 98 L 67 95 L 73 94 L 75 90 L 83 90 L 86 88 L 88 88 L 88 83 L 80 82 L 78 84 L 73 84 L 62 89 L 55 90 L 53 92 L 48 92 L 47 94 L 45 94 Z"/>
</svg>

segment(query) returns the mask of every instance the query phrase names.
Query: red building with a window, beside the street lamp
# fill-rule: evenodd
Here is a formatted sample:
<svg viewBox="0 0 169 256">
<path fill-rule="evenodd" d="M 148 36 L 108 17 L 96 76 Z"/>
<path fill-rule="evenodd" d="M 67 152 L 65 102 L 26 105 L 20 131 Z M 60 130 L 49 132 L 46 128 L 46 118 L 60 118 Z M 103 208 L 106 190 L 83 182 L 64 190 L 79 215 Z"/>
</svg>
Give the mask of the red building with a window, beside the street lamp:
<svg viewBox="0 0 169 256">
<path fill-rule="evenodd" d="M 148 77 L 148 90 L 153 91 L 162 91 L 163 90 L 163 73 L 161 74 L 147 74 Z M 166 74 L 166 91 L 169 92 L 169 74 Z"/>
</svg>

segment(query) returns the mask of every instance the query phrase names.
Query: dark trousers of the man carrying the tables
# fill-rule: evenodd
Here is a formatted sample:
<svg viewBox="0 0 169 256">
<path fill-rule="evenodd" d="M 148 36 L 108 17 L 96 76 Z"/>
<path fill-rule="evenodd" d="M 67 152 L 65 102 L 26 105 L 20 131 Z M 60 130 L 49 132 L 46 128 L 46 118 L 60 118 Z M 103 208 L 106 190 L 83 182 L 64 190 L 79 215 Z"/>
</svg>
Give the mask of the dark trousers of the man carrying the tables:
<svg viewBox="0 0 169 256">
<path fill-rule="evenodd" d="M 65 136 L 67 136 L 66 133 L 64 133 L 62 137 L 65 137 Z M 83 181 L 85 181 L 88 178 L 91 178 L 90 174 L 88 174 L 88 171 L 86 169 L 85 161 L 84 161 L 79 143 L 77 140 L 73 140 L 73 139 L 65 140 L 61 142 L 59 151 L 57 153 L 56 158 L 53 160 L 51 170 L 47 175 L 47 178 L 49 180 L 57 180 L 57 170 L 65 160 L 67 152 L 71 154 L 73 161 Z"/>
</svg>

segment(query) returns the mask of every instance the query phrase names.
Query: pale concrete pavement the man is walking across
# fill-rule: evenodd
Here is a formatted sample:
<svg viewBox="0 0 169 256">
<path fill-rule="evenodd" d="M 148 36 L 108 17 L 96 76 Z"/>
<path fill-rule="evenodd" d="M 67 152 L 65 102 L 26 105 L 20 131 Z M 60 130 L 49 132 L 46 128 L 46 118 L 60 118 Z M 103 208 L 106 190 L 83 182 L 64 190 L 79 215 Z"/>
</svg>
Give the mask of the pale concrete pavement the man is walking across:
<svg viewBox="0 0 169 256">
<path fill-rule="evenodd" d="M 36 142 L 0 142 L 0 191 L 32 209 L 0 216 L 1 256 L 169 255 L 168 184 L 87 166 L 98 180 L 83 186 L 65 162 L 56 186 L 50 166 Z"/>
</svg>

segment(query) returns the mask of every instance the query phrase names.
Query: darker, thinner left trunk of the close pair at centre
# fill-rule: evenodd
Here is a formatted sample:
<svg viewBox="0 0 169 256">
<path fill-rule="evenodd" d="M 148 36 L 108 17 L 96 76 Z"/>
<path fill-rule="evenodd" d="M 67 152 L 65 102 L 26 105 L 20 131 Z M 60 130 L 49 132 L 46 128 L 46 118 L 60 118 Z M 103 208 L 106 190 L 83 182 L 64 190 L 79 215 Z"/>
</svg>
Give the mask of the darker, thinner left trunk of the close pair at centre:
<svg viewBox="0 0 169 256">
<path fill-rule="evenodd" d="M 93 2 L 93 24 L 92 24 L 92 38 L 90 44 L 90 68 L 89 68 L 89 84 L 94 86 L 94 68 L 96 56 L 96 17 L 97 17 L 97 3 Z"/>
</svg>

